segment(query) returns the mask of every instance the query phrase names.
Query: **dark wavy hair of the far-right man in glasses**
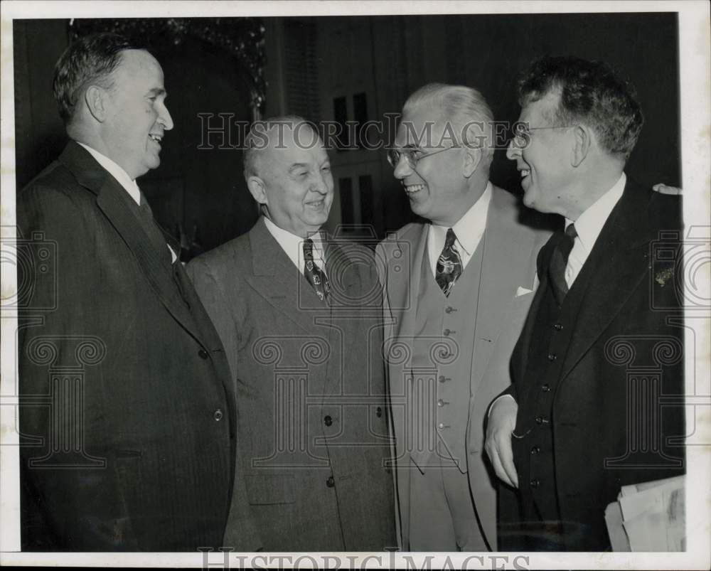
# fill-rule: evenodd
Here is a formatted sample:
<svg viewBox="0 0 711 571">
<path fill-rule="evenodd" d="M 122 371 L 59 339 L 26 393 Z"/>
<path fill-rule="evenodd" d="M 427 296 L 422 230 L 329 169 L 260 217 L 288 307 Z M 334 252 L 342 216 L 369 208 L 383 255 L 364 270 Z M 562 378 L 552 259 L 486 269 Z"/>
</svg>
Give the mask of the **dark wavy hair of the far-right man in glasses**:
<svg viewBox="0 0 711 571">
<path fill-rule="evenodd" d="M 518 81 L 518 102 L 560 90 L 555 125 L 586 124 L 610 154 L 629 158 L 644 123 L 634 86 L 611 65 L 580 58 L 541 58 Z"/>
</svg>

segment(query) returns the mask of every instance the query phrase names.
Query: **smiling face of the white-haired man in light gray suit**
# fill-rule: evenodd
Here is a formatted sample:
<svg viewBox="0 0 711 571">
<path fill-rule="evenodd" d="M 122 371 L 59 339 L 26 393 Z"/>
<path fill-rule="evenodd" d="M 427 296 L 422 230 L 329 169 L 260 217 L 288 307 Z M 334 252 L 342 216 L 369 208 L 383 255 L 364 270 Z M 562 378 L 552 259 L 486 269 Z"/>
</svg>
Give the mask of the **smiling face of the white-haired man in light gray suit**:
<svg viewBox="0 0 711 571">
<path fill-rule="evenodd" d="M 428 124 L 431 136 L 427 134 Z M 414 168 L 401 156 L 394 172 L 410 198 L 412 212 L 443 226 L 453 226 L 471 206 L 463 174 L 464 149 L 427 156 L 456 144 L 449 136 L 451 132 L 458 132 L 454 125 L 448 131 L 444 121 L 438 120 L 431 110 L 415 108 L 403 115 L 395 137 L 395 148 L 419 149 L 414 155 L 419 159 Z"/>
</svg>

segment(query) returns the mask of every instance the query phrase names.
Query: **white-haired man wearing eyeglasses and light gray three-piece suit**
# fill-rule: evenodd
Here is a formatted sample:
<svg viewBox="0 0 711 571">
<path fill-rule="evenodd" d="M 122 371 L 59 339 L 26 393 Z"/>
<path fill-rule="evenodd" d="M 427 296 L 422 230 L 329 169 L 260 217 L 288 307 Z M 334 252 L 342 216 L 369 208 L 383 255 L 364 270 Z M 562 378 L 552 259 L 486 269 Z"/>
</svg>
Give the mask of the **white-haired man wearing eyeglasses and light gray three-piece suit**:
<svg viewBox="0 0 711 571">
<path fill-rule="evenodd" d="M 478 91 L 431 84 L 405 102 L 388 155 L 426 219 L 378 247 L 404 550 L 497 547 L 483 422 L 508 386 L 547 233 L 489 182 L 494 146 Z"/>
</svg>

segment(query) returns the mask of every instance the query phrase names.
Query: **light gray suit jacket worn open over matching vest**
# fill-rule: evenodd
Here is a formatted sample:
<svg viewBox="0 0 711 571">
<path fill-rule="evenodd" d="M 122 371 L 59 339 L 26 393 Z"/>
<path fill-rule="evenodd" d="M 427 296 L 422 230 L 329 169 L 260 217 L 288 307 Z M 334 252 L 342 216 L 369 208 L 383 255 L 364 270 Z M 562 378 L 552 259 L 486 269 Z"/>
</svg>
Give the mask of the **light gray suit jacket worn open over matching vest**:
<svg viewBox="0 0 711 571">
<path fill-rule="evenodd" d="M 483 452 L 486 409 L 493 397 L 510 383 L 509 360 L 528 306 L 533 299 L 535 260 L 540 246 L 550 233 L 536 230 L 519 221 L 520 208 L 512 194 L 493 187 L 483 240 L 483 261 L 474 346 L 460 348 L 473 353 L 469 422 L 466 434 L 467 471 L 476 511 L 483 531 L 496 550 L 496 479 Z M 385 355 L 398 339 L 415 334 L 420 269 L 427 256 L 428 224 L 412 223 L 378 245 L 380 281 L 383 283 Z M 410 271 L 408 271 L 410 269 Z M 474 306 L 474 303 L 472 304 Z M 474 309 L 473 309 L 474 311 Z M 461 353 L 460 353 L 461 356 Z M 405 406 L 397 406 L 407 394 L 400 359 L 387 366 L 392 406 L 392 432 L 395 436 L 395 484 L 399 505 L 400 540 L 409 548 L 410 451 L 405 447 Z M 422 498 L 427 501 L 427 498 Z"/>
</svg>

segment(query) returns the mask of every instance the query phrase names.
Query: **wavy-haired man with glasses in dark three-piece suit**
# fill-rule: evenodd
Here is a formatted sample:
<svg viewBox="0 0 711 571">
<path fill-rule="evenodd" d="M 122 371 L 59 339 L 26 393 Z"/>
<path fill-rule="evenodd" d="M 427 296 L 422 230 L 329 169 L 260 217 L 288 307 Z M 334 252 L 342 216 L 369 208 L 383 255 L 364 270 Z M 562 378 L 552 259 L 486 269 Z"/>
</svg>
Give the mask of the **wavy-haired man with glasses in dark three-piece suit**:
<svg viewBox="0 0 711 571">
<path fill-rule="evenodd" d="M 608 65 L 539 60 L 519 97 L 508 158 L 524 203 L 566 225 L 540 251 L 513 384 L 489 417 L 486 449 L 511 486 L 504 543 L 606 550 L 620 487 L 684 471 L 680 197 L 624 174 L 643 119 Z"/>
</svg>

